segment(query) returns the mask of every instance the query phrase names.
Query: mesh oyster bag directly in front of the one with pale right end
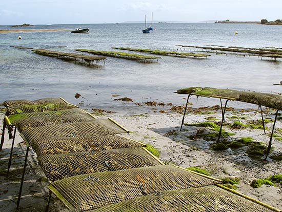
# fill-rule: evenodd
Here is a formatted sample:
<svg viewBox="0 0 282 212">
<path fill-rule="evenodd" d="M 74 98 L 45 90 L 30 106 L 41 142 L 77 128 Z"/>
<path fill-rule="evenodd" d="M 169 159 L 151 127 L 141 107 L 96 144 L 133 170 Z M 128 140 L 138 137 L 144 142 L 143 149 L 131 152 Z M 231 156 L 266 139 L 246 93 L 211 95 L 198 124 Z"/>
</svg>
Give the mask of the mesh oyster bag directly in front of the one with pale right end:
<svg viewBox="0 0 282 212">
<path fill-rule="evenodd" d="M 93 137 L 45 137 L 31 143 L 37 156 L 58 155 L 71 152 L 103 151 L 118 148 L 142 147 L 144 145 L 119 136 Z"/>
</svg>

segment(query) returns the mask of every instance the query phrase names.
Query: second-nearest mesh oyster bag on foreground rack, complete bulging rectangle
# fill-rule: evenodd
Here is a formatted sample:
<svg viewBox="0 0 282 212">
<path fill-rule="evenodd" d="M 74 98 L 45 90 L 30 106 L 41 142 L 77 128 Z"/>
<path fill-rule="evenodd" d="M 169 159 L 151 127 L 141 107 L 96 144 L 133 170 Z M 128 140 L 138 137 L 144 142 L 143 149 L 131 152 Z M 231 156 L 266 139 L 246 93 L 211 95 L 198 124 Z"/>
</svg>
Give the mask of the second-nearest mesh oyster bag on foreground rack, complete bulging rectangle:
<svg viewBox="0 0 282 212">
<path fill-rule="evenodd" d="M 84 180 L 89 176 L 93 177 Z M 165 190 L 215 185 L 217 183 L 218 181 L 198 176 L 188 170 L 159 165 L 74 176 L 55 181 L 48 188 L 70 209 L 85 211 Z M 146 210 L 146 208 L 143 209 Z"/>
</svg>

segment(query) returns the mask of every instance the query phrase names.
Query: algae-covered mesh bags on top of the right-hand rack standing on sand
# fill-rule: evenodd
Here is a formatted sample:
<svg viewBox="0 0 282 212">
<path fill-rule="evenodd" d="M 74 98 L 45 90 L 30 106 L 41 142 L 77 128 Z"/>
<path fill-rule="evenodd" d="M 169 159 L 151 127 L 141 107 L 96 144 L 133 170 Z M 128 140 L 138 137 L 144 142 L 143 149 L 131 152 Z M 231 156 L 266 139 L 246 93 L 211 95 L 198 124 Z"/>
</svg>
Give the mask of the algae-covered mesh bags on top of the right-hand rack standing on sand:
<svg viewBox="0 0 282 212">
<path fill-rule="evenodd" d="M 233 98 L 237 101 L 262 105 L 273 109 L 282 109 L 282 96 L 271 93 L 238 91 L 231 89 L 218 89 L 209 87 L 189 87 L 177 90 L 178 94 L 204 95 L 215 98 Z"/>
</svg>

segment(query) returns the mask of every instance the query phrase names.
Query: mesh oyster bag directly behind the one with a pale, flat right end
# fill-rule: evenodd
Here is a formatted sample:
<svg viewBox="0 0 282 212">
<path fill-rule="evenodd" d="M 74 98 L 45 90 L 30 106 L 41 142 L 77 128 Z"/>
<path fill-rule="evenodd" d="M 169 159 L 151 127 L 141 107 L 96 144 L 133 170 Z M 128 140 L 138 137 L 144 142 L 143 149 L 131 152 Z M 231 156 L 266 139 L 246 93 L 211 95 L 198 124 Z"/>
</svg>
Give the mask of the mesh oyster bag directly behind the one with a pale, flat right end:
<svg viewBox="0 0 282 212">
<path fill-rule="evenodd" d="M 47 126 L 51 124 L 64 124 L 74 122 L 90 122 L 93 117 L 87 113 L 66 114 L 66 115 L 45 115 L 43 117 L 30 117 L 25 119 L 17 119 L 14 125 L 19 132 L 32 129 L 39 126 Z"/>
</svg>

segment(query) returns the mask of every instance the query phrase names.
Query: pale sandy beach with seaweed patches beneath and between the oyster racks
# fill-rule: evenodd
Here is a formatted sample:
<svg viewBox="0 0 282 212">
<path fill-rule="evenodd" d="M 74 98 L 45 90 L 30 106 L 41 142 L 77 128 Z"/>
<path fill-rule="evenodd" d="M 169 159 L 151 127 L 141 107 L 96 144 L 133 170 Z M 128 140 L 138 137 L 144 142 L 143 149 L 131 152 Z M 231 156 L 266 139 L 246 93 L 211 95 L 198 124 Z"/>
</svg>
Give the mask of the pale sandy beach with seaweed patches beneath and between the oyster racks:
<svg viewBox="0 0 282 212">
<path fill-rule="evenodd" d="M 110 117 L 130 130 L 129 134 L 123 134 L 128 138 L 153 145 L 159 152 L 159 159 L 166 164 L 174 164 L 183 168 L 197 166 L 205 168 L 210 172 L 210 176 L 214 178 L 238 177 L 237 191 L 252 197 L 256 200 L 264 202 L 268 205 L 282 209 L 282 186 L 263 185 L 259 188 L 250 186 L 254 179 L 267 178 L 271 175 L 281 174 L 281 161 L 268 158 L 263 160 L 264 156 L 249 157 L 244 148 L 228 148 L 226 150 L 211 150 L 211 146 L 216 143 L 216 138 L 205 140 L 203 137 L 196 136 L 202 132 L 210 132 L 212 129 L 196 126 L 184 126 L 179 131 L 183 115 L 177 112 L 164 110 L 157 111 L 154 107 L 148 107 L 148 112 L 143 114 L 121 114 L 106 112 L 103 110 L 89 110 L 93 112 L 97 118 Z M 215 109 L 216 108 L 216 109 Z M 152 110 L 150 110 L 152 109 Z M 265 110 L 264 116 L 268 120 L 274 119 L 274 110 Z M 186 114 L 185 123 L 195 124 L 207 122 L 207 119 L 221 120 L 221 110 L 218 107 L 210 108 L 190 108 Z M 232 118 L 233 117 L 233 118 Z M 230 109 L 226 112 L 226 124 L 233 123 L 234 117 L 237 120 L 248 123 L 261 119 L 260 112 L 257 110 L 239 110 Z M 4 113 L 1 113 L 3 120 Z M 1 128 L 3 128 L 1 123 Z M 225 125 L 226 125 L 225 124 Z M 228 132 L 235 134 L 229 140 L 236 140 L 241 137 L 252 137 L 254 141 L 263 142 L 265 145 L 269 142 L 268 134 L 271 132 L 273 122 L 266 124 L 267 134 L 262 129 L 240 128 L 234 129 L 224 127 Z M 281 121 L 276 122 L 275 133 L 281 132 Z M 1 175 L 0 175 L 0 210 L 16 211 L 16 200 L 18 195 L 19 183 L 23 171 L 23 163 L 25 158 L 25 145 L 21 137 L 17 134 L 13 151 L 13 161 L 9 178 L 6 178 L 6 169 L 9 159 L 11 140 L 8 140 L 5 134 L 5 143 L 1 157 Z M 272 155 L 281 155 L 282 142 L 273 138 Z M 25 183 L 21 199 L 20 209 L 17 211 L 43 211 L 48 196 L 48 189 L 43 172 L 38 167 L 36 155 L 32 151 L 29 153 Z M 68 211 L 62 202 L 55 197 L 52 198 L 49 211 Z"/>
</svg>

